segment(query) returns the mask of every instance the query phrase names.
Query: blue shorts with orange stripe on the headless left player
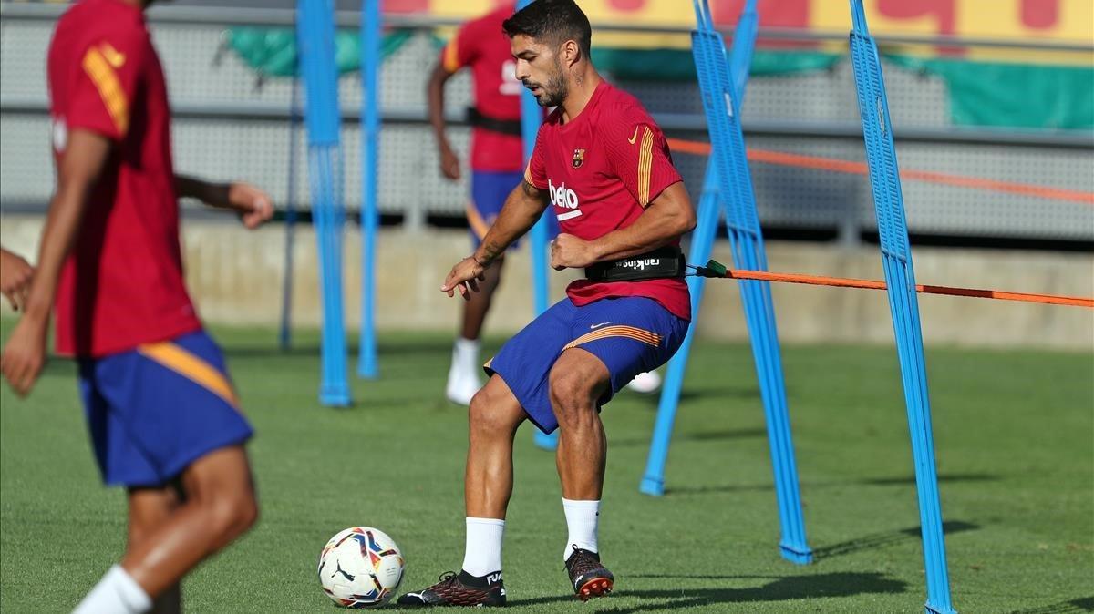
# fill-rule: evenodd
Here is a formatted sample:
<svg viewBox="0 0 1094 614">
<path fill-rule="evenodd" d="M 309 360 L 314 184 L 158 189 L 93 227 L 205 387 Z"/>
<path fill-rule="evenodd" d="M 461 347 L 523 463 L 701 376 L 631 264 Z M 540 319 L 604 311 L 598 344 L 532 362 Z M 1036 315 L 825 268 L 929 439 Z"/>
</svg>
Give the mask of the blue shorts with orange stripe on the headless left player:
<svg viewBox="0 0 1094 614">
<path fill-rule="evenodd" d="M 108 485 L 162 486 L 253 434 L 220 347 L 205 331 L 79 365 L 88 427 Z"/>
</svg>

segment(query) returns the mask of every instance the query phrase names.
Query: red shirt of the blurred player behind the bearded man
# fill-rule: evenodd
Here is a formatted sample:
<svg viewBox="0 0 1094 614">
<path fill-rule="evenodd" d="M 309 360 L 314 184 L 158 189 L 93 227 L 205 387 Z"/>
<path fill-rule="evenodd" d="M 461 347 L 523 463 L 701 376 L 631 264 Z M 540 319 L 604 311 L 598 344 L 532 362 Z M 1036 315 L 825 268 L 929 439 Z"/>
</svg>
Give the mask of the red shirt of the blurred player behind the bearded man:
<svg viewBox="0 0 1094 614">
<path fill-rule="evenodd" d="M 502 121 L 521 119 L 521 82 L 501 24 L 516 10 L 509 3 L 465 23 L 441 51 L 444 70 L 472 69 L 475 108 L 479 114 Z M 472 169 L 520 172 L 524 147 L 520 134 L 504 134 L 480 127 L 472 128 Z"/>
</svg>

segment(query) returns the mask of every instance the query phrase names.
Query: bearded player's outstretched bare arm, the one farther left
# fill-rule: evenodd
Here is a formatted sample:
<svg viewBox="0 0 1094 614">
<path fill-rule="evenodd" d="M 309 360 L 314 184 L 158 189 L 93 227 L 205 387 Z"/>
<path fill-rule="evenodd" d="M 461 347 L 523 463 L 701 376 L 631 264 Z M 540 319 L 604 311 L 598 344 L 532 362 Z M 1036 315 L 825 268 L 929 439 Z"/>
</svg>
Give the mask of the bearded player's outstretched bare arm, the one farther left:
<svg viewBox="0 0 1094 614">
<path fill-rule="evenodd" d="M 482 272 L 496 259 L 505 252 L 512 243 L 528 232 L 547 209 L 547 192 L 522 181 L 510 192 L 505 204 L 498 214 L 498 220 L 482 238 L 482 244 L 475 253 L 464 258 L 452 268 L 445 278 L 441 292 L 454 296 L 458 291 L 464 298 L 469 292 L 478 292 L 478 281 Z"/>
</svg>

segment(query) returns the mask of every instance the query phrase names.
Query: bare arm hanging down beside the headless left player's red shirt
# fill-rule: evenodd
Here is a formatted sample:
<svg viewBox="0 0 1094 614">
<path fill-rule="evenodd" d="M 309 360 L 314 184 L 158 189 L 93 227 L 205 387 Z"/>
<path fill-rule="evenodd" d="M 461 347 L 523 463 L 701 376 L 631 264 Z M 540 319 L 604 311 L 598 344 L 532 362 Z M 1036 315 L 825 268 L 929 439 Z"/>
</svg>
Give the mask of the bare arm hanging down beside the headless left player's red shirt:
<svg viewBox="0 0 1094 614">
<path fill-rule="evenodd" d="M 38 269 L 31 282 L 23 317 L 3 349 L 0 371 L 20 395 L 34 387 L 46 362 L 49 312 L 61 265 L 75 243 L 88 208 L 88 196 L 110 153 L 110 141 L 86 130 L 73 130 L 57 168 L 57 192 L 49 201 L 42 231 Z"/>
</svg>

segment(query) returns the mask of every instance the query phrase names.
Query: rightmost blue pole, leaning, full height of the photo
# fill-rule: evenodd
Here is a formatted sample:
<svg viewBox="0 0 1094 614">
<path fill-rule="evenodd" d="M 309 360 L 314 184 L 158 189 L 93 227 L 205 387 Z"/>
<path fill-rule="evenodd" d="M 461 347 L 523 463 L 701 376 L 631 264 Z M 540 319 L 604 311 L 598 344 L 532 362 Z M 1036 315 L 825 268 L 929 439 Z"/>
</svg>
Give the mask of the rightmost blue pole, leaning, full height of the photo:
<svg viewBox="0 0 1094 614">
<path fill-rule="evenodd" d="M 934 440 L 931 428 L 931 402 L 927 387 L 923 336 L 920 330 L 919 299 L 916 295 L 916 272 L 911 262 L 908 225 L 893 123 L 889 120 L 885 80 L 882 75 L 877 45 L 866 27 L 862 0 L 851 0 L 851 61 L 854 86 L 859 97 L 859 115 L 870 168 L 877 233 L 881 238 L 882 264 L 888 286 L 889 310 L 896 336 L 904 399 L 911 435 L 911 456 L 916 469 L 919 495 L 919 521 L 923 539 L 923 567 L 927 572 L 924 612 L 952 614 L 950 574 L 942 529 L 942 505 L 939 501 L 939 480 L 934 464 Z"/>
</svg>

